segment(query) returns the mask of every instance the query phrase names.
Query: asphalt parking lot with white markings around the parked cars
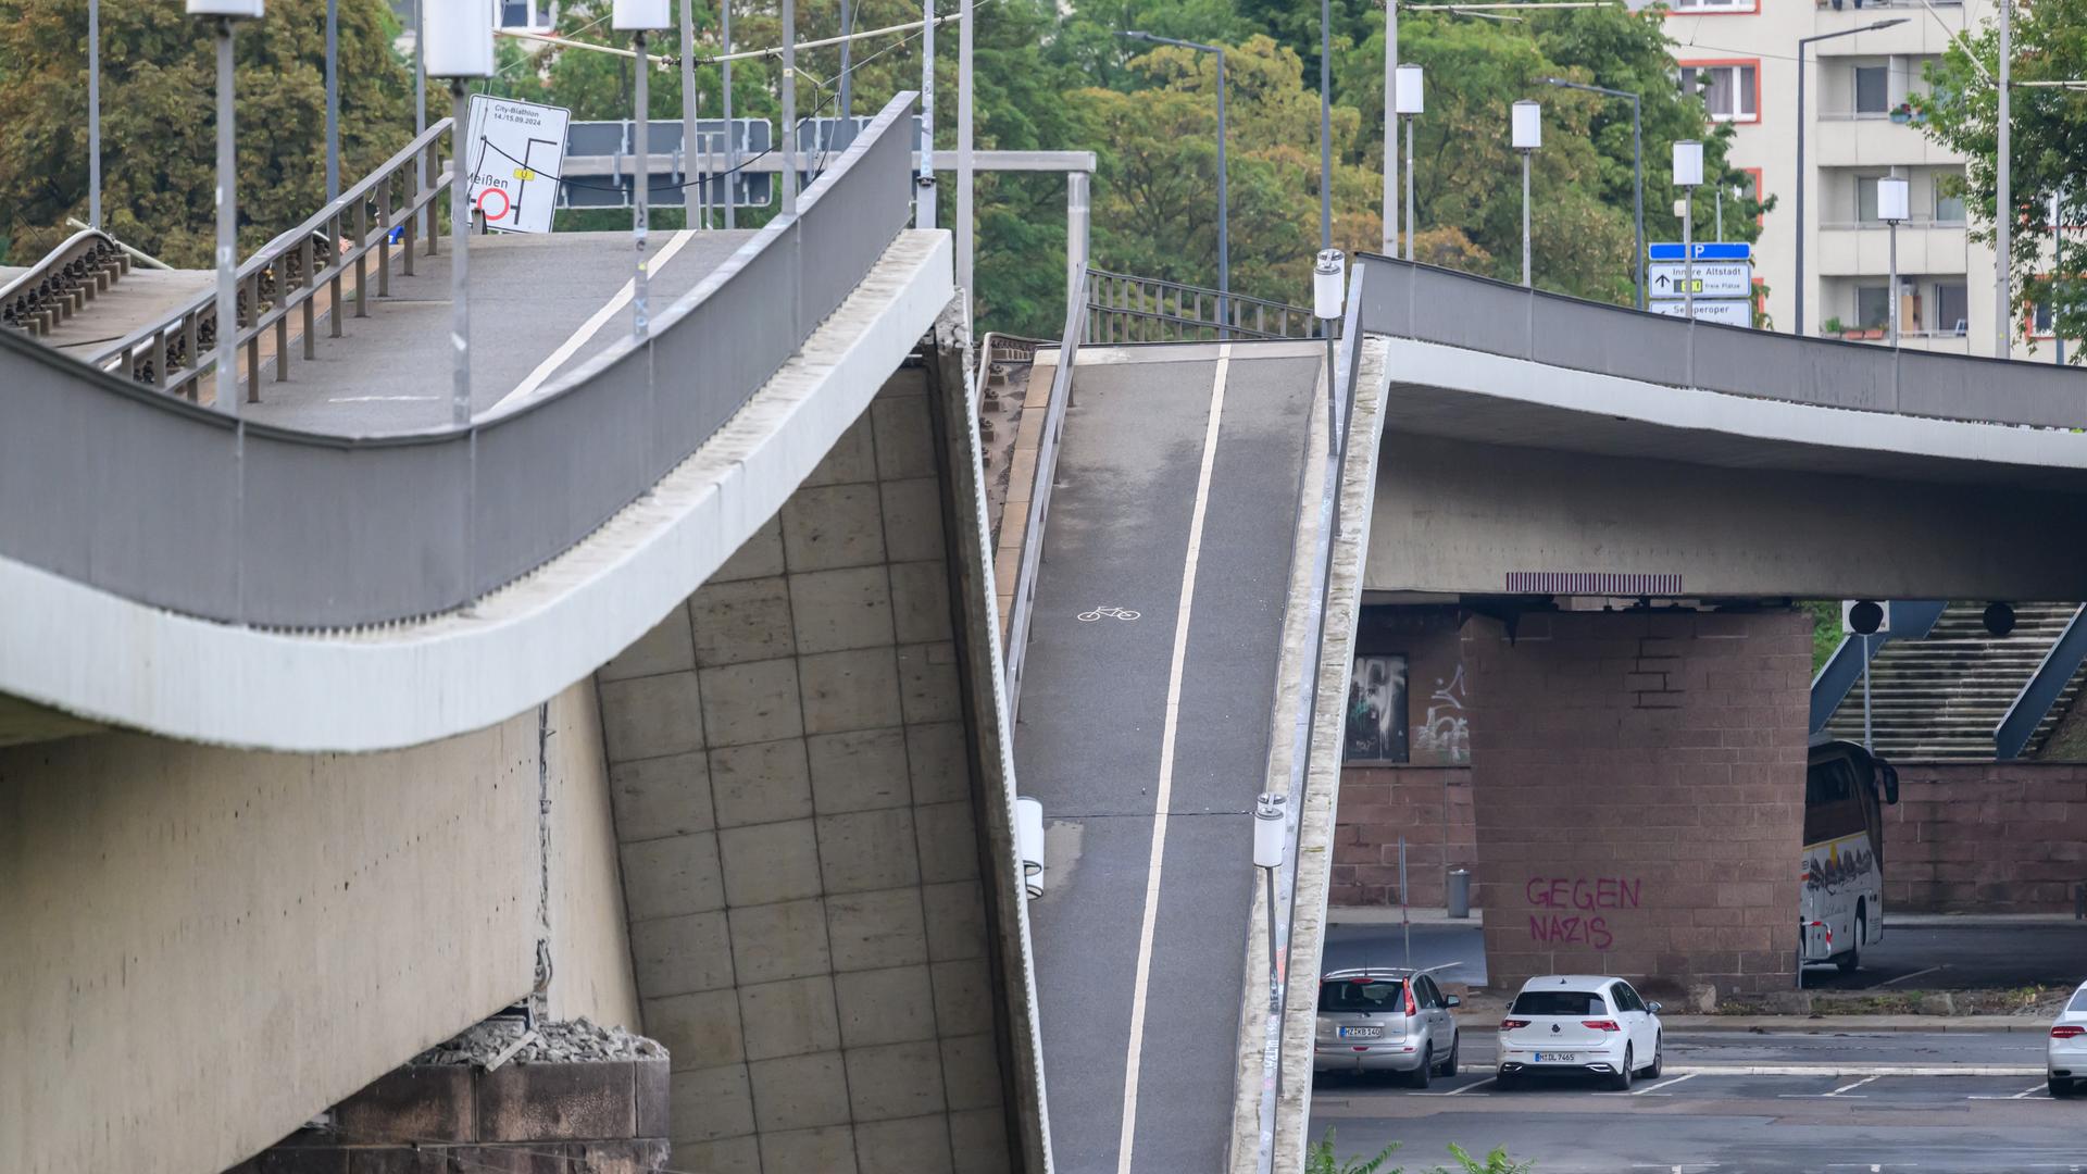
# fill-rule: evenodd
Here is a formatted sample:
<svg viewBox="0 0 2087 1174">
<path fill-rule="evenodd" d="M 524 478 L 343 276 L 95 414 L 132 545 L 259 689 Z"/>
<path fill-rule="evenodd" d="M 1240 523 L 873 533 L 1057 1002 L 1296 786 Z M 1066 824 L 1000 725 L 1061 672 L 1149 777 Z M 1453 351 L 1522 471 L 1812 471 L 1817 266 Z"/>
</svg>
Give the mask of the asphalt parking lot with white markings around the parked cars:
<svg viewBox="0 0 2087 1174">
<path fill-rule="evenodd" d="M 1501 1090 L 1492 1032 L 1425 1093 L 1386 1078 L 1321 1076 L 1313 1136 L 1340 1155 L 1400 1143 L 1432 1170 L 1448 1145 L 1505 1147 L 1538 1174 L 2024 1172 L 2087 1170 L 2087 1101 L 2052 1101 L 2039 1034 L 1672 1036 L 1665 1072 L 1630 1093 L 1580 1078 Z"/>
</svg>

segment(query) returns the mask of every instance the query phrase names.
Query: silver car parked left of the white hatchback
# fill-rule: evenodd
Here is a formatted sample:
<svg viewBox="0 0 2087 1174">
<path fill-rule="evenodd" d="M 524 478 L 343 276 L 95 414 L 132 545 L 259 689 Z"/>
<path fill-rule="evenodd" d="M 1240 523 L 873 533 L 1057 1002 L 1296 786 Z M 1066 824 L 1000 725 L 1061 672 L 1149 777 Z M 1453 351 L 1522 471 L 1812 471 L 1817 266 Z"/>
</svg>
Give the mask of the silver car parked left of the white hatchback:
<svg viewBox="0 0 2087 1174">
<path fill-rule="evenodd" d="M 1436 1072 L 1457 1074 L 1457 1017 L 1463 1001 L 1425 973 L 1336 969 L 1319 976 L 1319 1036 L 1313 1072 L 1398 1072 L 1425 1088 Z"/>
</svg>

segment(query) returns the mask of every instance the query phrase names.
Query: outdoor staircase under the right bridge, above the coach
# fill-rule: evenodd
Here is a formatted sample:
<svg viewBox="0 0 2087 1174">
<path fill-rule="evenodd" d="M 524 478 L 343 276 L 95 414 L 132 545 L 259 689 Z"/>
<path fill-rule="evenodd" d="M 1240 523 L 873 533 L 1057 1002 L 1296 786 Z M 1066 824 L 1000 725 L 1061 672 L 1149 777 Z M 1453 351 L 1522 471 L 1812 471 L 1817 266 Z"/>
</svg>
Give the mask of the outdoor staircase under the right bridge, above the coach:
<svg viewBox="0 0 2087 1174">
<path fill-rule="evenodd" d="M 2072 618 L 2077 604 L 2016 604 L 2014 631 L 1985 631 L 1985 604 L 1951 602 L 1926 639 L 1895 639 L 1870 662 L 1870 704 L 1876 752 L 1901 760 L 1991 762 L 1993 729 L 2043 654 Z M 2052 712 L 2029 739 L 2035 758 L 2087 671 L 2074 673 Z M 1841 700 L 1826 731 L 1862 742 L 1862 685 Z"/>
</svg>

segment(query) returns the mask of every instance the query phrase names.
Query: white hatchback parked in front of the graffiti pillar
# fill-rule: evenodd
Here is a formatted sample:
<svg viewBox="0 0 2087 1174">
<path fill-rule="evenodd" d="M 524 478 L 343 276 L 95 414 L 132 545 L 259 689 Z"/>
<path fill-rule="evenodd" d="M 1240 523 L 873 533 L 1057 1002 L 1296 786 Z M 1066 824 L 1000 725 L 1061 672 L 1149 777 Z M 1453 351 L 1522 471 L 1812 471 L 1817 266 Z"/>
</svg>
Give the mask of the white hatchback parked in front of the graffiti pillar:
<svg viewBox="0 0 2087 1174">
<path fill-rule="evenodd" d="M 1624 1090 L 1634 1076 L 1659 1076 L 1659 1003 L 1622 978 L 1532 978 L 1501 1019 L 1496 1080 L 1511 1088 L 1528 1074 L 1588 1072 Z"/>
</svg>

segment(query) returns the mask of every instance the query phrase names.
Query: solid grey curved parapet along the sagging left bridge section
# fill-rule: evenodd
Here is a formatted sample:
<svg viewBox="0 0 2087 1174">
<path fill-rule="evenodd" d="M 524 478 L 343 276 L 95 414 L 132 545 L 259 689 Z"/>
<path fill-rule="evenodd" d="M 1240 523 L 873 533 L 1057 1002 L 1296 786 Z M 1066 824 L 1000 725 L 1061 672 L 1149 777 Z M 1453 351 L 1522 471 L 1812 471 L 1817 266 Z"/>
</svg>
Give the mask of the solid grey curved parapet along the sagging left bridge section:
<svg viewBox="0 0 2087 1174">
<path fill-rule="evenodd" d="M 895 96 L 795 215 L 664 307 L 647 338 L 467 426 L 278 428 L 0 330 L 0 499 L 23 503 L 0 510 L 0 558 L 271 629 L 413 620 L 513 583 L 695 453 L 868 276 L 912 219 L 912 102 Z"/>
</svg>

